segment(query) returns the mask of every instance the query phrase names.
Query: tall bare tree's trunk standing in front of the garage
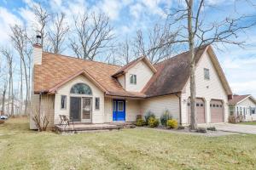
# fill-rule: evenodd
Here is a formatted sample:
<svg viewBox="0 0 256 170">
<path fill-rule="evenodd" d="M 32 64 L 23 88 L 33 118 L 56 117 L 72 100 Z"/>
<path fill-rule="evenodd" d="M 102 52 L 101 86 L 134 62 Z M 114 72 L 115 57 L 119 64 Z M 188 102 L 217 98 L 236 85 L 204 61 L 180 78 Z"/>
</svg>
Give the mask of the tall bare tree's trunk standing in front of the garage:
<svg viewBox="0 0 256 170">
<path fill-rule="evenodd" d="M 195 91 L 195 44 L 194 44 L 194 33 L 193 33 L 193 0 L 189 0 L 188 4 L 188 31 L 189 31 L 189 54 L 190 54 L 190 107 L 191 107 L 191 122 L 190 126 L 192 130 L 197 129 L 197 119 L 195 111 L 196 103 L 196 91 Z"/>
</svg>

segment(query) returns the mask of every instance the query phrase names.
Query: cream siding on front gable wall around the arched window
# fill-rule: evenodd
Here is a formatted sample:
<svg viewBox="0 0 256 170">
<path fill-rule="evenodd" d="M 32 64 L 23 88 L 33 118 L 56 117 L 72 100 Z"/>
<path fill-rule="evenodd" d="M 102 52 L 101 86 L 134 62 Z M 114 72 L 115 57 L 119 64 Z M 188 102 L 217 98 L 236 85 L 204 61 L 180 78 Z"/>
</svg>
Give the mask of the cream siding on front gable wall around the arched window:
<svg viewBox="0 0 256 170">
<path fill-rule="evenodd" d="M 70 89 L 75 85 L 76 83 L 85 83 L 88 86 L 90 86 L 92 90 L 92 122 L 93 123 L 102 123 L 104 122 L 104 94 L 103 92 L 96 87 L 96 85 L 93 82 L 90 82 L 89 79 L 87 79 L 84 76 L 79 76 L 74 78 L 72 81 L 67 82 L 65 85 L 63 85 L 55 94 L 55 124 L 59 122 L 59 115 L 67 115 L 69 116 L 70 111 Z M 67 109 L 61 109 L 61 95 L 67 95 Z M 73 94 L 72 94 L 73 95 Z M 78 96 L 84 96 L 79 95 Z M 85 97 L 85 96 L 84 96 Z M 100 98 L 100 109 L 95 110 L 95 98 Z"/>
</svg>

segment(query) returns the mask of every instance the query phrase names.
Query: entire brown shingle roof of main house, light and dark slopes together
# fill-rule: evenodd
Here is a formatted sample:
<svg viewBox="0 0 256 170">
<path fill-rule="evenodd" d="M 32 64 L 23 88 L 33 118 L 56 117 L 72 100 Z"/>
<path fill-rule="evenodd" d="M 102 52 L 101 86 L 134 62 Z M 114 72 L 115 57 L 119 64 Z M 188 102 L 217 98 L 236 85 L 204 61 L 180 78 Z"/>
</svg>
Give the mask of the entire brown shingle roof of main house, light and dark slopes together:
<svg viewBox="0 0 256 170">
<path fill-rule="evenodd" d="M 206 49 L 207 46 L 195 49 L 197 51 L 195 56 L 196 64 Z M 189 52 L 178 54 L 171 59 L 166 59 L 152 66 L 151 69 L 155 72 L 154 76 L 151 77 L 141 93 L 127 92 L 114 78 L 114 75 L 119 74 L 121 71 L 126 71 L 141 59 L 143 58 L 136 59 L 130 64 L 120 67 L 118 65 L 108 65 L 102 62 L 43 52 L 42 65 L 35 65 L 34 67 L 34 92 L 55 93 L 61 83 L 83 74 L 94 81 L 106 94 L 113 96 L 145 98 L 181 93 L 189 80 Z M 148 62 L 147 60 L 145 61 Z M 227 82 L 226 86 L 229 88 Z"/>
</svg>

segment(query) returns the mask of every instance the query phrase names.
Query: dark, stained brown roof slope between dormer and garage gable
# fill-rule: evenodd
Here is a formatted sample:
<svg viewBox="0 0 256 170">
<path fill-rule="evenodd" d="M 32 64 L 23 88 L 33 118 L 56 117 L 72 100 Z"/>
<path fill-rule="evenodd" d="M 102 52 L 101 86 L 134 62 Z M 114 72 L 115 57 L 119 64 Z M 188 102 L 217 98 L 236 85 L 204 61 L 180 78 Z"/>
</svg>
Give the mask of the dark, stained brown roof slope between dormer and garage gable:
<svg viewBox="0 0 256 170">
<path fill-rule="evenodd" d="M 198 63 L 206 47 L 197 50 L 195 64 Z M 154 67 L 157 73 L 150 79 L 143 93 L 147 96 L 159 96 L 181 93 L 189 80 L 189 52 L 178 54 L 171 59 L 166 59 Z"/>
</svg>

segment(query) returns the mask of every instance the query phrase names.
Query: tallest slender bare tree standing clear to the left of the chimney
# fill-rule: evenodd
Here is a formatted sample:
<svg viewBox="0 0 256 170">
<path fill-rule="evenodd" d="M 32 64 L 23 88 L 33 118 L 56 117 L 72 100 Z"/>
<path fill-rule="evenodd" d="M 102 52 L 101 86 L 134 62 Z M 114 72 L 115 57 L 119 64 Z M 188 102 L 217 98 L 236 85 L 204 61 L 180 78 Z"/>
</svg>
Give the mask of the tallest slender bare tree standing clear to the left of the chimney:
<svg viewBox="0 0 256 170">
<path fill-rule="evenodd" d="M 32 56 L 32 45 L 30 39 L 27 37 L 26 28 L 22 28 L 21 26 L 12 26 L 11 27 L 11 39 L 14 44 L 15 49 L 20 55 L 20 60 L 23 63 L 24 73 L 25 73 L 25 82 L 26 82 L 26 102 L 25 102 L 25 113 L 27 112 L 27 108 L 30 101 L 30 72 L 31 72 L 31 56 Z M 28 60 L 28 62 L 26 61 Z M 20 97 L 22 104 L 22 65 L 20 65 Z M 22 105 L 21 105 L 22 107 Z"/>
</svg>

